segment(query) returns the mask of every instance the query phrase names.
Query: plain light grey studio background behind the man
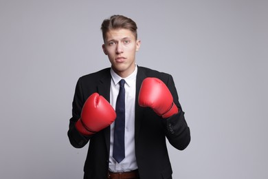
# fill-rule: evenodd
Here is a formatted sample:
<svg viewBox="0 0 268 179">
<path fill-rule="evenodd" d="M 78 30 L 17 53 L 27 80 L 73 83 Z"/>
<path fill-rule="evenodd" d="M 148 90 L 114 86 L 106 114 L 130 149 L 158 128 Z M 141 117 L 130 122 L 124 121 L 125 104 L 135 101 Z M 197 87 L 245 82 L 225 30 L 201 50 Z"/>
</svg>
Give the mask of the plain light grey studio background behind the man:
<svg viewBox="0 0 268 179">
<path fill-rule="evenodd" d="M 175 79 L 192 141 L 174 178 L 268 178 L 267 1 L 0 1 L 0 178 L 82 178 L 67 129 L 79 76 L 109 67 L 100 24 L 137 22 L 137 64 Z M 155 158 L 157 160 L 157 158 Z"/>
</svg>

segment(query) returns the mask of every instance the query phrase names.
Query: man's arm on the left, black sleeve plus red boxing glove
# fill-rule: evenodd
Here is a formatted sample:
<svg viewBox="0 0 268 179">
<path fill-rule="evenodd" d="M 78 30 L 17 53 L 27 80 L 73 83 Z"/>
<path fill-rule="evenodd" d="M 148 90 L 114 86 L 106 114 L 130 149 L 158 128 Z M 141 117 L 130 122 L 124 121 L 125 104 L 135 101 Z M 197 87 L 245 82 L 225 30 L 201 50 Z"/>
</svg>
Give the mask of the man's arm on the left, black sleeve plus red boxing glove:
<svg viewBox="0 0 268 179">
<path fill-rule="evenodd" d="M 86 101 L 82 96 L 82 87 L 78 81 L 73 102 L 73 117 L 68 131 L 71 145 L 78 148 L 84 147 L 93 134 L 111 125 L 116 117 L 110 103 L 97 92 L 91 94 Z"/>
</svg>

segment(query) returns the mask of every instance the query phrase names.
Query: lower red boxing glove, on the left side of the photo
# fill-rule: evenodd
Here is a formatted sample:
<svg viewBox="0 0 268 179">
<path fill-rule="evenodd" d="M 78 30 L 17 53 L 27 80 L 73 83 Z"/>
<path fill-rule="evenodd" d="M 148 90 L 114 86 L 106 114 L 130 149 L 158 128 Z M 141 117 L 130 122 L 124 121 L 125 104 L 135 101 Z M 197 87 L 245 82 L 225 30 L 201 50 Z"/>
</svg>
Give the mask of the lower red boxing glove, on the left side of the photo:
<svg viewBox="0 0 268 179">
<path fill-rule="evenodd" d="M 82 135 L 89 136 L 111 125 L 115 118 L 115 110 L 110 103 L 98 93 L 93 93 L 82 107 L 76 129 Z"/>
</svg>

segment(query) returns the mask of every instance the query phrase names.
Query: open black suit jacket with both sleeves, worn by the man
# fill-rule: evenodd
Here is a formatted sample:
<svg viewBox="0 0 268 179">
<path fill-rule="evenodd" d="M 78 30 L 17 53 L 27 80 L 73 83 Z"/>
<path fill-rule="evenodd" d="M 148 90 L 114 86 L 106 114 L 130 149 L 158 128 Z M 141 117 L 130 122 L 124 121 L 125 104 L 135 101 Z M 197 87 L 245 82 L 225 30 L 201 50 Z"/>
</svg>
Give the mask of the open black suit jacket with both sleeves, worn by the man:
<svg viewBox="0 0 268 179">
<path fill-rule="evenodd" d="M 139 89 L 146 77 L 155 77 L 163 81 L 170 90 L 179 113 L 170 118 L 161 118 L 149 107 L 140 107 L 137 102 Z M 110 101 L 110 68 L 79 78 L 74 94 L 72 118 L 69 123 L 68 137 L 71 145 L 80 148 L 89 142 L 85 161 L 85 178 L 107 178 L 109 169 L 110 127 L 86 137 L 76 129 L 82 106 L 94 92 Z M 183 150 L 190 143 L 190 129 L 179 104 L 175 83 L 170 74 L 137 67 L 135 101 L 135 155 L 139 176 L 142 179 L 172 178 L 172 169 L 166 147 L 166 138 L 176 149 Z"/>
</svg>

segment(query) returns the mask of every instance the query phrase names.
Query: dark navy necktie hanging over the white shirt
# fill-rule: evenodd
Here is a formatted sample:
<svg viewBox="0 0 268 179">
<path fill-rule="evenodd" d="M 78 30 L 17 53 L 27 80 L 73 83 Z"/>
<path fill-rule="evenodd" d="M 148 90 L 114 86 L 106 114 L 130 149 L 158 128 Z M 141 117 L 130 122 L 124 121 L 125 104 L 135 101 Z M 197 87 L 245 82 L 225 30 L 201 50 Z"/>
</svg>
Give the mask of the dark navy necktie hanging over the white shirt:
<svg viewBox="0 0 268 179">
<path fill-rule="evenodd" d="M 124 159 L 124 123 L 125 123 L 125 109 L 124 109 L 124 79 L 120 82 L 120 89 L 118 99 L 115 105 L 116 119 L 115 119 L 115 133 L 113 140 L 113 158 L 120 163 Z"/>
</svg>

